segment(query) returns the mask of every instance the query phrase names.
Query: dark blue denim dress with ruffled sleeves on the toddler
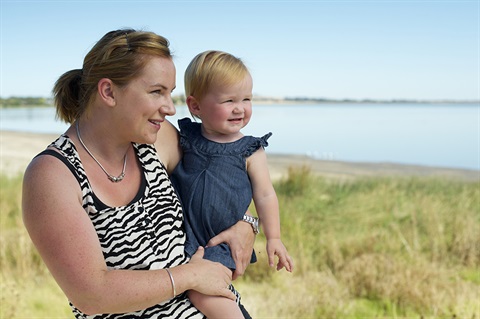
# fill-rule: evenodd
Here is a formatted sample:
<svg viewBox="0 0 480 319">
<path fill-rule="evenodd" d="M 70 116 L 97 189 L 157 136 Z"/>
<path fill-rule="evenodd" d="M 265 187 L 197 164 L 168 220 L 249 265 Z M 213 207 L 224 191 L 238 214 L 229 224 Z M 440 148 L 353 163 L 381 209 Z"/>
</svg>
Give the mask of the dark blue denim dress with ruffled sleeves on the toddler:
<svg viewBox="0 0 480 319">
<path fill-rule="evenodd" d="M 217 143 L 203 137 L 201 124 L 189 118 L 178 121 L 183 158 L 171 179 L 184 208 L 186 253 L 243 219 L 252 201 L 252 185 L 246 159 L 268 146 L 268 133 L 261 138 L 244 136 L 232 143 Z M 205 259 L 234 270 L 230 248 L 223 243 L 205 249 Z M 256 261 L 255 252 L 251 262 Z"/>
</svg>

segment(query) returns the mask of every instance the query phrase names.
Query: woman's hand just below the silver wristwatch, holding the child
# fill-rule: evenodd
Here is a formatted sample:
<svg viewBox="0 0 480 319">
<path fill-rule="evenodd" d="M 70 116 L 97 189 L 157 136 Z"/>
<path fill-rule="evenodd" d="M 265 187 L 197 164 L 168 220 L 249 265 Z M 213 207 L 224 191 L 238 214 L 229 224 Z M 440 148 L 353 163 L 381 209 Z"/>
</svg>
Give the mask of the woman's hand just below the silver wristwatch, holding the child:
<svg viewBox="0 0 480 319">
<path fill-rule="evenodd" d="M 236 265 L 236 270 L 233 273 L 233 280 L 235 280 L 245 273 L 245 269 L 250 264 L 254 242 L 255 234 L 252 226 L 244 221 L 238 221 L 229 229 L 210 239 L 207 246 L 212 247 L 226 243 L 230 247 Z"/>
</svg>

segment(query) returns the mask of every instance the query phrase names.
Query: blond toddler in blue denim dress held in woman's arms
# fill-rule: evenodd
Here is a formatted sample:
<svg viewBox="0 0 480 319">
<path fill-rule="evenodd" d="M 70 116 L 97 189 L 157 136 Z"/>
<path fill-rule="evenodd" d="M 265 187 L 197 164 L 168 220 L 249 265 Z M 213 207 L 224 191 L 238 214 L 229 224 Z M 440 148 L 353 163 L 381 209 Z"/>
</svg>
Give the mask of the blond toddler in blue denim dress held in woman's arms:
<svg viewBox="0 0 480 319">
<path fill-rule="evenodd" d="M 185 95 L 194 118 L 179 120 L 183 159 L 172 181 L 183 201 L 187 232 L 186 252 L 239 220 L 258 223 L 244 216 L 252 198 L 267 238 L 270 266 L 278 256 L 277 270 L 293 270 L 293 260 L 280 239 L 278 200 L 272 186 L 264 147 L 271 133 L 244 136 L 240 130 L 252 115 L 252 77 L 244 63 L 231 54 L 206 51 L 197 55 L 185 72 Z M 205 249 L 204 258 L 235 270 L 228 245 Z M 252 262 L 255 262 L 252 254 Z M 188 292 L 191 302 L 209 319 L 243 318 L 235 301 Z"/>
</svg>

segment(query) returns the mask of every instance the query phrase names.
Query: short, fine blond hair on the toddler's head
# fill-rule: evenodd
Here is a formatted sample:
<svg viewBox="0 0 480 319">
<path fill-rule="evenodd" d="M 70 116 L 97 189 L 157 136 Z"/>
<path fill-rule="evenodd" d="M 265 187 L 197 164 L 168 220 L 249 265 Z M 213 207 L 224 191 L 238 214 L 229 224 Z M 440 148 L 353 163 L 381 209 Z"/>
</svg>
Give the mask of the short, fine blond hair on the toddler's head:
<svg viewBox="0 0 480 319">
<path fill-rule="evenodd" d="M 222 51 L 205 51 L 185 71 L 185 95 L 201 100 L 212 86 L 229 86 L 247 75 L 250 72 L 241 59 Z"/>
</svg>

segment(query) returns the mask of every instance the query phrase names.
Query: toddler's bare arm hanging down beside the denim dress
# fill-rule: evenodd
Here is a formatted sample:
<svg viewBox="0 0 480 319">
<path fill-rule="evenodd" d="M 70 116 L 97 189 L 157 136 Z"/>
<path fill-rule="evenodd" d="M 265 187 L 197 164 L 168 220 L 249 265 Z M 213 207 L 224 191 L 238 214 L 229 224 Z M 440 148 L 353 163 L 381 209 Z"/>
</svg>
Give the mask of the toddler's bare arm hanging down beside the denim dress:
<svg viewBox="0 0 480 319">
<path fill-rule="evenodd" d="M 293 270 L 293 260 L 280 239 L 278 199 L 270 180 L 267 156 L 263 148 L 247 158 L 247 171 L 252 182 L 255 208 L 267 238 L 268 263 L 273 267 L 274 257 L 277 255 L 277 270 L 285 267 L 287 271 L 291 272 Z"/>
</svg>

